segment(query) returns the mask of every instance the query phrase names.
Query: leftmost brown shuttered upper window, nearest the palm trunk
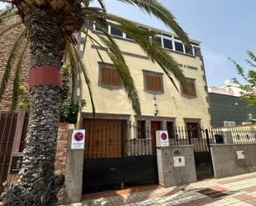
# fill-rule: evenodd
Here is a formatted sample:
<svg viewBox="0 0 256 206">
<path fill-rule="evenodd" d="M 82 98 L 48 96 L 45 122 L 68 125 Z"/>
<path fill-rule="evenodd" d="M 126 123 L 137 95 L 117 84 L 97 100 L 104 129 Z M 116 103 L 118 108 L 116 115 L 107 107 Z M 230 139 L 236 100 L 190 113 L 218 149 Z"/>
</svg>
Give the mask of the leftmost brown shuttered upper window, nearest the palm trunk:
<svg viewBox="0 0 256 206">
<path fill-rule="evenodd" d="M 118 71 L 112 65 L 100 65 L 99 67 L 99 81 L 103 85 L 111 85 L 120 87 L 121 79 Z"/>
</svg>

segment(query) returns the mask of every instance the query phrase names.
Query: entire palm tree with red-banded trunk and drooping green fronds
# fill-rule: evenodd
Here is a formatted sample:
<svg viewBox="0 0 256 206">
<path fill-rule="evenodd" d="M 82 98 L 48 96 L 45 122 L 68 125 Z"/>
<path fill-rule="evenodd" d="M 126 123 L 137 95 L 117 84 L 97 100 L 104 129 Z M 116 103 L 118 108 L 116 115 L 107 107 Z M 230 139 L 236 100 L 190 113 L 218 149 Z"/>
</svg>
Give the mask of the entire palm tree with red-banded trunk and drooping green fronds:
<svg viewBox="0 0 256 206">
<path fill-rule="evenodd" d="M 54 175 L 54 162 L 56 156 L 56 137 L 60 119 L 60 67 L 63 60 L 69 59 L 73 74 L 73 91 L 80 71 L 84 74 L 88 86 L 91 103 L 94 109 L 92 92 L 85 65 L 80 60 L 80 55 L 75 49 L 75 32 L 85 33 L 86 39 L 95 45 L 108 48 L 107 53 L 118 70 L 124 89 L 133 105 L 135 113 L 140 115 L 141 108 L 133 78 L 123 55 L 114 39 L 104 29 L 108 22 L 111 26 L 124 31 L 142 47 L 148 57 L 159 64 L 165 74 L 174 84 L 178 79 L 186 84 L 181 69 L 176 60 L 158 46 L 152 36 L 156 31 L 145 31 L 133 22 L 121 17 L 116 17 L 106 12 L 104 0 L 97 0 L 99 7 L 90 7 L 92 0 L 0 0 L 12 3 L 12 8 L 0 14 L 0 22 L 11 21 L 1 33 L 16 26 L 24 25 L 23 31 L 17 36 L 7 60 L 2 83 L 0 85 L 0 99 L 4 93 L 10 70 L 15 69 L 13 83 L 13 103 L 17 102 L 17 87 L 19 73 L 22 69 L 22 58 L 26 50 L 30 50 L 31 65 L 30 77 L 30 117 L 26 139 L 26 148 L 23 151 L 24 159 L 22 170 L 17 185 L 7 185 L 5 205 L 56 205 L 56 192 L 64 184 L 64 176 Z M 164 22 L 186 46 L 190 42 L 186 33 L 178 26 L 175 18 L 157 0 L 117 0 L 141 8 L 143 11 L 157 17 Z M 17 21 L 17 15 L 20 19 Z M 99 36 L 90 26 L 94 22 L 99 26 L 104 36 Z M 94 39 L 99 36 L 99 40 Z M 27 39 L 25 39 L 27 37 Z M 86 41 L 85 41 L 86 44 Z M 13 59 L 17 64 L 12 65 Z M 177 88 L 176 88 L 177 89 Z"/>
</svg>

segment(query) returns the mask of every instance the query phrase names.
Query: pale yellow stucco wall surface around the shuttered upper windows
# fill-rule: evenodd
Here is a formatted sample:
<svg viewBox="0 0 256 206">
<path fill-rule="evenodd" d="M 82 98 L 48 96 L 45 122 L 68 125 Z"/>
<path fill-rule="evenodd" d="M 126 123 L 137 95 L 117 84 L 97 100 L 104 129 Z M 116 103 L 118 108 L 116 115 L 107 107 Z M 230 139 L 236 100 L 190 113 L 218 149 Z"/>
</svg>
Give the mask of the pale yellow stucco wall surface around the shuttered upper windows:
<svg viewBox="0 0 256 206">
<path fill-rule="evenodd" d="M 97 37 L 95 37 L 97 39 Z M 139 98 L 142 105 L 142 116 L 153 117 L 156 108 L 154 107 L 153 94 L 144 91 L 144 79 L 142 70 L 149 70 L 158 73 L 163 71 L 159 65 L 153 64 L 147 59 L 147 55 L 133 41 L 116 39 L 119 47 L 123 51 L 124 58 L 127 62 L 133 76 L 135 86 L 138 89 Z M 133 109 L 128 102 L 124 89 L 107 89 L 99 86 L 99 62 L 101 61 L 97 50 L 87 42 L 84 62 L 88 69 L 89 78 L 91 79 L 92 90 L 94 93 L 94 102 L 97 113 L 109 114 L 128 114 L 133 115 Z M 105 63 L 111 63 L 105 50 L 99 49 Z M 178 93 L 171 84 L 167 75 L 163 75 L 164 93 L 157 94 L 157 107 L 159 113 L 157 117 L 175 117 L 177 126 L 184 126 L 184 118 L 200 119 L 201 126 L 208 127 L 210 124 L 210 114 L 208 113 L 209 104 L 207 103 L 207 91 L 205 91 L 205 72 L 203 62 L 199 57 L 177 54 L 170 52 L 170 55 L 177 60 L 179 64 L 186 65 L 182 67 L 187 78 L 196 79 L 195 98 L 187 98 Z M 197 69 L 189 69 L 192 66 Z M 84 81 L 85 84 L 85 81 Z M 180 84 L 176 81 L 180 88 Z M 83 87 L 81 95 L 89 100 L 89 93 L 86 87 Z M 87 107 L 83 108 L 84 113 L 91 113 L 91 105 L 87 101 Z"/>
</svg>

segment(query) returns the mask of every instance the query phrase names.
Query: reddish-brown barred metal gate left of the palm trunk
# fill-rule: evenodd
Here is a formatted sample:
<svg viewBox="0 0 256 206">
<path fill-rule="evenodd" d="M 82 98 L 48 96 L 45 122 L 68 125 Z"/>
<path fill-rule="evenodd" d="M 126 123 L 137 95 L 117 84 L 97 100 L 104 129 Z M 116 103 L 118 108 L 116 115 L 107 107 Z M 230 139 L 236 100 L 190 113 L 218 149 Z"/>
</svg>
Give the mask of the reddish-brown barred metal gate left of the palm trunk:
<svg viewBox="0 0 256 206">
<path fill-rule="evenodd" d="M 23 150 L 28 117 L 25 112 L 0 113 L 0 194 L 7 180 L 12 152 Z"/>
</svg>

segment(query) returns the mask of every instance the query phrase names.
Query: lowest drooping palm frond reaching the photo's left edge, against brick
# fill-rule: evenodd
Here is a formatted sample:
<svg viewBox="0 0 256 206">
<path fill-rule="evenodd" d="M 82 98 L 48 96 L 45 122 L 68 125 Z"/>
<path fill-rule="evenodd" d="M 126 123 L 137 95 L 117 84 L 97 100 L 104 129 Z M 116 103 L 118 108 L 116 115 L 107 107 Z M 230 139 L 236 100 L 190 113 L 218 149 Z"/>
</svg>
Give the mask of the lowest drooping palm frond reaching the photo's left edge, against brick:
<svg viewBox="0 0 256 206">
<path fill-rule="evenodd" d="M 2 94 L 4 93 L 6 86 L 7 86 L 9 75 L 10 75 L 10 72 L 12 69 L 12 62 L 16 58 L 15 55 L 17 53 L 19 46 L 22 43 L 22 38 L 24 38 L 24 36 L 26 36 L 26 33 L 27 33 L 27 29 L 24 29 L 22 31 L 22 33 L 17 37 L 17 40 L 13 43 L 12 49 L 11 49 L 10 54 L 7 59 L 6 68 L 5 68 L 5 71 L 2 76 L 2 82 L 1 82 L 1 86 L 0 86 L 0 100 L 2 99 Z"/>
</svg>

